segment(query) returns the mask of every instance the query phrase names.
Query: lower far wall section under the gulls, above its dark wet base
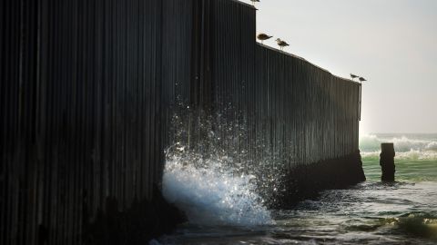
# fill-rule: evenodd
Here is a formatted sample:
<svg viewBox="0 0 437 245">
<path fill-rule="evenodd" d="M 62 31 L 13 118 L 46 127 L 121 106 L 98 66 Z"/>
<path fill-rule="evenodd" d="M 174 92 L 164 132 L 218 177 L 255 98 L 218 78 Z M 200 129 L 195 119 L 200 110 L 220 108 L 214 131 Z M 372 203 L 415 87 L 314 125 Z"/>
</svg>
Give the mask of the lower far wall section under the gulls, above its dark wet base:
<svg viewBox="0 0 437 245">
<path fill-rule="evenodd" d="M 358 150 L 359 83 L 262 44 L 256 67 L 256 132 L 289 152 L 290 167 Z"/>
</svg>

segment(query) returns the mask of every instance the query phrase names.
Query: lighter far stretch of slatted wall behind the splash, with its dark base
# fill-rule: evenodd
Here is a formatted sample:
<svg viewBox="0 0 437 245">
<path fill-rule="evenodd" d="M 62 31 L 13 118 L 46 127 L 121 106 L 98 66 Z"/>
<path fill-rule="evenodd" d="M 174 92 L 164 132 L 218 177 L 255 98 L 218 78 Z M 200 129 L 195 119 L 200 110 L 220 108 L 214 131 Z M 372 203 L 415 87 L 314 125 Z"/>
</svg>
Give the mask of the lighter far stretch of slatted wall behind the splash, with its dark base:
<svg viewBox="0 0 437 245">
<path fill-rule="evenodd" d="M 237 152 L 231 157 L 241 155 L 252 164 L 274 158 L 270 164 L 290 171 L 286 185 L 293 191 L 281 197 L 285 205 L 323 188 L 365 180 L 358 145 L 360 83 L 258 44 L 256 9 L 251 5 L 232 0 L 175 2 L 186 12 L 172 12 L 171 26 L 184 30 L 190 43 L 164 44 L 174 48 L 169 51 L 174 56 L 165 61 L 168 67 L 190 66 L 185 72 L 169 71 L 163 81 L 173 91 L 164 91 L 169 98 L 165 122 L 171 124 L 182 102 L 179 114 L 186 113 L 188 104 L 212 116 L 218 137 L 231 139 L 223 142 L 226 152 Z M 188 13 L 192 15 L 187 18 Z M 208 133 L 198 131 L 203 122 L 193 121 L 182 123 L 191 145 Z M 230 125 L 232 131 L 221 125 Z M 174 133 L 168 132 L 167 146 L 175 142 Z M 201 142 L 201 148 L 204 145 Z"/>
</svg>

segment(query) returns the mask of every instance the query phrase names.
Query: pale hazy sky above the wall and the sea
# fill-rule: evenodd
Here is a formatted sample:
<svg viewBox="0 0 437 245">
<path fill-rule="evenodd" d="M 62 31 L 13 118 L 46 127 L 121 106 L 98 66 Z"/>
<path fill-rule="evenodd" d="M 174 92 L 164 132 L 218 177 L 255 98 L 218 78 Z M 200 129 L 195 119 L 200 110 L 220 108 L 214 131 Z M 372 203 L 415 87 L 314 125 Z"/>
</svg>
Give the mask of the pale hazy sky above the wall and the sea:
<svg viewBox="0 0 437 245">
<path fill-rule="evenodd" d="M 369 80 L 361 133 L 437 132 L 437 0 L 260 1 L 258 32 L 333 74 Z"/>
</svg>

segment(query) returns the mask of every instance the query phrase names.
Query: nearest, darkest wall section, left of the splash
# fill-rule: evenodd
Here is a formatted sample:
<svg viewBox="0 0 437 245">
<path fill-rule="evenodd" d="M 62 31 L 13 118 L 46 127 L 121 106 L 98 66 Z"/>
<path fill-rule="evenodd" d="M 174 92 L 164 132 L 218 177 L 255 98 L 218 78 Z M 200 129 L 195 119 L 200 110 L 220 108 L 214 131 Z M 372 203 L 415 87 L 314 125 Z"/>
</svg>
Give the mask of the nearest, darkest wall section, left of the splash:
<svg viewBox="0 0 437 245">
<path fill-rule="evenodd" d="M 164 162 L 161 11 L 2 1 L 1 244 L 133 244 L 135 229 L 168 228 L 150 202 Z"/>
</svg>

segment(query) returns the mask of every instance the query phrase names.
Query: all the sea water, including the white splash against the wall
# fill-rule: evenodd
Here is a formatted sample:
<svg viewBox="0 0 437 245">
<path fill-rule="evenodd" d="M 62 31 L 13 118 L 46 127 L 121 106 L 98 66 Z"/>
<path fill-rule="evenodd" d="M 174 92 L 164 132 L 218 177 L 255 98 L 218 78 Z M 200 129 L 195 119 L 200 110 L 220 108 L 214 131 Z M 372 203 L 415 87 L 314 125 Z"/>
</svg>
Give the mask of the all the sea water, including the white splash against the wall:
<svg viewBox="0 0 437 245">
<path fill-rule="evenodd" d="M 380 181 L 381 142 L 395 144 L 395 182 Z M 188 222 L 152 243 L 437 244 L 437 134 L 365 135 L 360 148 L 367 181 L 290 210 L 267 209 L 226 156 L 168 156 L 164 195 Z"/>
</svg>

